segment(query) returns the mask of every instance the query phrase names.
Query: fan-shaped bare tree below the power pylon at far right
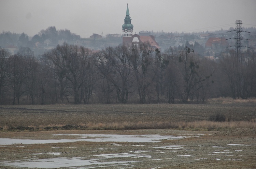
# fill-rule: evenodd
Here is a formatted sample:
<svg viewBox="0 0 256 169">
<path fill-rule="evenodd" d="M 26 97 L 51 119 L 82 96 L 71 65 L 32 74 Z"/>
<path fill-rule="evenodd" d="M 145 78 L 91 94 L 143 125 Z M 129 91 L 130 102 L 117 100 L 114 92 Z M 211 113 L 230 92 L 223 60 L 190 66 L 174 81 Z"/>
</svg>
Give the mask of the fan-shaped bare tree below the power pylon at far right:
<svg viewBox="0 0 256 169">
<path fill-rule="evenodd" d="M 222 70 L 225 73 L 231 96 L 233 99 L 246 99 L 252 96 L 255 87 L 255 51 L 250 49 L 247 52 L 236 55 L 230 50 L 221 58 Z"/>
</svg>

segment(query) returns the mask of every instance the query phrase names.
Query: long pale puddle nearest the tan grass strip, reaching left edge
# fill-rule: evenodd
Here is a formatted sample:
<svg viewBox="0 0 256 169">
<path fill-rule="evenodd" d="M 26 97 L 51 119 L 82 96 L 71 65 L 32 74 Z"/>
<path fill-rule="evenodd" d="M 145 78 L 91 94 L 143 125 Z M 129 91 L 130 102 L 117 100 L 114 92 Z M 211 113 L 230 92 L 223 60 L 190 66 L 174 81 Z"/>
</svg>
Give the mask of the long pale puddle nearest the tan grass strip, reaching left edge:
<svg viewBox="0 0 256 169">
<path fill-rule="evenodd" d="M 158 143 L 166 139 L 183 139 L 185 136 L 163 136 L 163 135 L 118 135 L 118 134 L 54 134 L 55 136 L 80 136 L 77 139 L 48 139 L 48 140 L 32 140 L 32 139 L 12 139 L 0 138 L 0 145 L 11 144 L 47 144 L 47 143 L 67 143 L 67 142 L 135 142 L 135 143 Z M 88 138 L 89 137 L 89 138 Z"/>
</svg>

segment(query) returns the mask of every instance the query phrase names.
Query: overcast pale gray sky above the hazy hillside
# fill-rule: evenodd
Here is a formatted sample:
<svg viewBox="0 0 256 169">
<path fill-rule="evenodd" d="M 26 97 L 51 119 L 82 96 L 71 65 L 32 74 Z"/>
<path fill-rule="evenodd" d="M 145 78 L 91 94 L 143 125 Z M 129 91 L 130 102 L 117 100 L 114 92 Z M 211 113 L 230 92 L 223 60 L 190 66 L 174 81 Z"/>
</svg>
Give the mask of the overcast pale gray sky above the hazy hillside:
<svg viewBox="0 0 256 169">
<path fill-rule="evenodd" d="M 236 20 L 256 27 L 256 0 L 0 0 L 0 31 L 122 34 L 127 3 L 134 33 L 214 31 L 235 28 Z"/>
</svg>

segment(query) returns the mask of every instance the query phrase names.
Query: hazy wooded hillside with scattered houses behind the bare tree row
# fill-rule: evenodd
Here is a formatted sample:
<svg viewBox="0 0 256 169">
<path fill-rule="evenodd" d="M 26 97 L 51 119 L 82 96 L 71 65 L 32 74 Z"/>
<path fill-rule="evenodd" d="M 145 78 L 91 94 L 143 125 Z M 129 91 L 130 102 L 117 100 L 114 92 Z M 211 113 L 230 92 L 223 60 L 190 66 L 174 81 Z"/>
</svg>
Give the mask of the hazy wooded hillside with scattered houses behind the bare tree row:
<svg viewBox="0 0 256 169">
<path fill-rule="evenodd" d="M 128 14 L 128 15 L 127 15 Z M 131 24 L 131 19 L 129 16 L 129 9 L 127 6 L 127 13 L 125 20 L 129 20 Z M 125 25 L 125 24 L 124 24 Z M 124 26 L 123 25 L 123 26 Z M 121 27 L 121 26 L 120 26 Z M 246 47 L 255 48 L 256 47 L 256 28 L 242 28 L 242 48 L 246 50 Z M 132 25 L 133 30 L 133 25 Z M 215 58 L 221 55 L 227 47 L 229 49 L 235 49 L 234 45 L 236 40 L 234 39 L 236 33 L 233 27 L 229 30 L 219 30 L 219 31 L 206 31 L 206 32 L 193 32 L 193 33 L 166 33 L 166 32 L 154 32 L 154 31 L 139 31 L 138 34 L 132 34 L 131 36 L 143 37 L 143 42 L 151 41 L 154 46 L 159 48 L 161 51 L 165 51 L 170 47 L 187 46 L 190 45 L 194 48 L 195 52 L 201 57 L 207 56 Z M 122 30 L 120 29 L 120 32 Z M 129 32 L 129 31 L 128 31 Z M 124 27 L 123 27 L 124 33 Z M 126 34 L 106 34 L 93 33 L 90 37 L 84 38 L 80 35 L 71 33 L 69 30 L 57 30 L 55 26 L 50 26 L 46 30 L 41 30 L 38 34 L 33 37 L 28 37 L 26 33 L 16 34 L 11 32 L 2 32 L 0 34 L 0 48 L 9 50 L 11 54 L 16 54 L 20 47 L 28 47 L 34 52 L 34 56 L 39 57 L 45 52 L 54 49 L 57 45 L 62 45 L 64 42 L 77 46 L 84 46 L 88 49 L 99 51 L 109 46 L 122 45 L 124 39 L 129 39 L 125 37 Z M 127 34 L 128 35 L 128 34 Z M 122 40 L 123 39 L 123 40 Z M 131 42 L 131 40 L 128 40 Z"/>
</svg>

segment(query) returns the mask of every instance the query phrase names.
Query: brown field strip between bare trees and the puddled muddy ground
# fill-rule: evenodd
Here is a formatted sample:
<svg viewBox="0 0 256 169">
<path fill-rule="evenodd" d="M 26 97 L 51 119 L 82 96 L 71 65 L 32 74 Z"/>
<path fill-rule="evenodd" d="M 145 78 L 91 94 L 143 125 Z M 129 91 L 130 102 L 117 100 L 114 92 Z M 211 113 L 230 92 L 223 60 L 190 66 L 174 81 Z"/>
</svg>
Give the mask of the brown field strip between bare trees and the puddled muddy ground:
<svg viewBox="0 0 256 169">
<path fill-rule="evenodd" d="M 216 114 L 228 121 L 209 121 Z M 214 98 L 200 105 L 1 105 L 0 119 L 0 131 L 255 129 L 256 99 Z"/>
</svg>

